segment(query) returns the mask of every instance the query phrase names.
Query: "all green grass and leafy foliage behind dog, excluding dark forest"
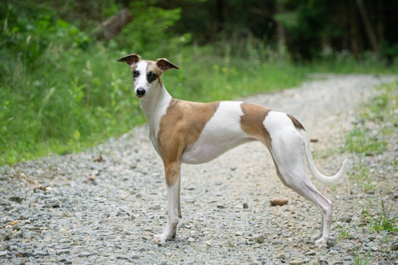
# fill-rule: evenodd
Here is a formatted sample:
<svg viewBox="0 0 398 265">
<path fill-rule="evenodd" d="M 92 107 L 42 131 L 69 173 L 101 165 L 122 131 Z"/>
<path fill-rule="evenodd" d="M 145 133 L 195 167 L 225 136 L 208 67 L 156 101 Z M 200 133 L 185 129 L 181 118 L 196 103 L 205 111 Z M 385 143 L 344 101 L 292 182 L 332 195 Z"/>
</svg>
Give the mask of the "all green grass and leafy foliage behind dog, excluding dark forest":
<svg viewBox="0 0 398 265">
<path fill-rule="evenodd" d="M 180 70 L 164 75 L 164 83 L 173 96 L 195 101 L 295 87 L 310 71 L 394 71 L 366 63 L 369 58 L 350 61 L 348 68 L 350 59 L 294 65 L 271 42 L 252 34 L 190 44 L 190 33 L 174 31 L 181 27 L 182 9 L 164 9 L 152 1 L 132 2 L 134 19 L 115 40 L 98 41 L 95 28 L 121 4 L 96 4 L 94 9 L 91 2 L 73 0 L 1 5 L 0 165 L 82 150 L 142 124 L 129 69 L 116 62 L 131 52 L 149 60 L 168 57 L 179 65 Z M 380 67 L 368 68 L 375 65 Z"/>
</svg>

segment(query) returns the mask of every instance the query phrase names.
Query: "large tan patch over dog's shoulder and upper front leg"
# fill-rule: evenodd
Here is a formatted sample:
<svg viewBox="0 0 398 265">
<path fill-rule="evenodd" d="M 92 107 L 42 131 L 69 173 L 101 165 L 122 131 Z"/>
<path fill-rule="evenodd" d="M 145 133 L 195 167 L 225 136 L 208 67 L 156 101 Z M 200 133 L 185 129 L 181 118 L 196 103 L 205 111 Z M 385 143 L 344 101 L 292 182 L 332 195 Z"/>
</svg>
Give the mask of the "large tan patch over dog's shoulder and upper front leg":
<svg viewBox="0 0 398 265">
<path fill-rule="evenodd" d="M 170 101 L 158 131 L 159 153 L 165 165 L 168 186 L 177 180 L 179 166 L 176 165 L 181 164 L 184 149 L 198 141 L 204 125 L 214 115 L 218 105 L 218 101 L 199 103 L 174 98 Z"/>
</svg>

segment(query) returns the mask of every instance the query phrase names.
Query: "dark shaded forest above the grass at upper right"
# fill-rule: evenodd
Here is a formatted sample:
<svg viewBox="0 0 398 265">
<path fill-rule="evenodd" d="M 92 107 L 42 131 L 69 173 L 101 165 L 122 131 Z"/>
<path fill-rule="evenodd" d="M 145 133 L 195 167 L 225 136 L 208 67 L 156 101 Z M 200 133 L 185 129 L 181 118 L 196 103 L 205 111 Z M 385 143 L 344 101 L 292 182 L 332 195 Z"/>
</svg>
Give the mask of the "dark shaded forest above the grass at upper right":
<svg viewBox="0 0 398 265">
<path fill-rule="evenodd" d="M 364 51 L 392 60 L 398 53 L 398 1 L 393 0 L 161 0 L 182 8 L 176 32 L 199 44 L 252 37 L 296 60 L 325 52 Z"/>
</svg>

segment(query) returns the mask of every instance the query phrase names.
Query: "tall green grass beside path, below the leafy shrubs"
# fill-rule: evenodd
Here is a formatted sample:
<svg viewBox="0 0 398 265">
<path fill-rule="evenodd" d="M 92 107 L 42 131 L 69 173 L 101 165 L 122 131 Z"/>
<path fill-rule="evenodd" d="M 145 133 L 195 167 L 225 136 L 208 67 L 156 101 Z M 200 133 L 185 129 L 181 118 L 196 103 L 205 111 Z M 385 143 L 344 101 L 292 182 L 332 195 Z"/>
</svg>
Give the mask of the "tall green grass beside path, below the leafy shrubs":
<svg viewBox="0 0 398 265">
<path fill-rule="evenodd" d="M 174 97 L 233 99 L 307 80 L 301 66 L 219 57 L 206 51 L 206 47 L 187 47 L 168 57 L 181 68 L 163 76 Z M 127 51 L 99 44 L 90 51 L 53 48 L 48 53 L 53 56 L 35 69 L 8 62 L 18 71 L 10 71 L 0 84 L 0 165 L 80 151 L 145 122 L 130 70 L 116 62 Z M 164 57 L 141 55 L 149 60 Z"/>
</svg>

